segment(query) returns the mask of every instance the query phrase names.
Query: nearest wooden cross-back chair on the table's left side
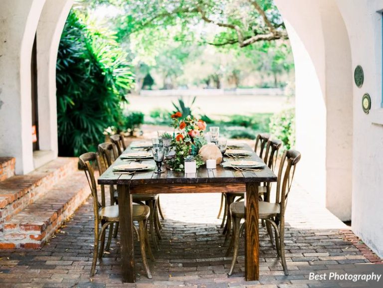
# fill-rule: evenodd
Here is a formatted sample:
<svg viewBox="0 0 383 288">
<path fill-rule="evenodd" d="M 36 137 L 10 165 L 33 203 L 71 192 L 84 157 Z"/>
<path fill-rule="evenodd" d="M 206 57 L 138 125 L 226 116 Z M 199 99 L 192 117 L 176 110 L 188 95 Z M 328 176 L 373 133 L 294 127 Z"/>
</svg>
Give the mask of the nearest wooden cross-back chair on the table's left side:
<svg viewBox="0 0 383 288">
<path fill-rule="evenodd" d="M 100 158 L 98 153 L 88 152 L 82 154 L 80 157 L 80 164 L 84 168 L 86 178 L 88 179 L 89 187 L 92 192 L 93 198 L 93 211 L 94 211 L 94 252 L 93 252 L 93 262 L 91 268 L 91 276 L 94 276 L 97 264 L 97 258 L 101 260 L 104 254 L 104 245 L 105 245 L 105 231 L 108 226 L 113 223 L 119 222 L 119 211 L 118 205 L 105 205 L 105 193 L 101 190 L 101 203 L 98 199 L 97 184 L 94 176 L 93 166 L 97 165 L 100 169 Z M 147 233 L 147 221 L 150 214 L 150 208 L 146 205 L 133 205 L 133 221 L 139 223 L 139 233 L 140 233 L 140 247 L 141 247 L 141 256 L 142 262 L 146 271 L 146 274 L 149 279 L 152 279 L 152 274 L 150 272 L 148 261 L 146 259 L 146 248 L 148 249 L 149 257 L 154 260 L 152 251 L 149 246 L 149 238 Z M 101 224 L 101 229 L 100 229 Z M 99 251 L 99 242 L 100 251 Z"/>
</svg>

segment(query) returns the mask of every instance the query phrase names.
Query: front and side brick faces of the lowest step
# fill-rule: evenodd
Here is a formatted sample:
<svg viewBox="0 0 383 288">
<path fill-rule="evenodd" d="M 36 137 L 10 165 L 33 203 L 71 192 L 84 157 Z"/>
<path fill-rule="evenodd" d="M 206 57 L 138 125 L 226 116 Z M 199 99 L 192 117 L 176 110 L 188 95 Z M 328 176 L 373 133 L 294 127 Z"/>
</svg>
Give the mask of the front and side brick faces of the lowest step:
<svg viewBox="0 0 383 288">
<path fill-rule="evenodd" d="M 79 187 L 75 193 L 70 194 L 68 200 L 66 200 L 60 208 L 52 211 L 50 216 L 45 219 L 45 221 L 30 223 L 14 223 L 14 219 L 10 220 L 8 223 L 4 223 L 4 233 L 3 237 L 8 239 L 0 240 L 0 249 L 14 249 L 14 248 L 32 248 L 37 249 L 43 246 L 43 244 L 50 239 L 52 234 L 65 222 L 70 215 L 72 215 L 75 210 L 80 207 L 84 201 L 86 201 L 90 195 L 89 184 L 86 181 L 85 174 L 83 171 L 76 173 L 77 175 L 83 177 L 83 182 L 79 182 Z M 67 181 L 67 178 L 61 180 L 56 186 L 65 187 L 62 185 L 62 182 Z M 73 183 L 72 183 L 73 185 Z M 70 186 L 70 185 L 69 185 Z M 63 190 L 65 188 L 62 188 Z M 49 197 L 49 192 L 45 197 L 39 199 L 44 201 L 44 198 Z M 14 239 L 10 239 L 14 236 Z M 20 236 L 25 236 L 20 239 Z"/>
</svg>

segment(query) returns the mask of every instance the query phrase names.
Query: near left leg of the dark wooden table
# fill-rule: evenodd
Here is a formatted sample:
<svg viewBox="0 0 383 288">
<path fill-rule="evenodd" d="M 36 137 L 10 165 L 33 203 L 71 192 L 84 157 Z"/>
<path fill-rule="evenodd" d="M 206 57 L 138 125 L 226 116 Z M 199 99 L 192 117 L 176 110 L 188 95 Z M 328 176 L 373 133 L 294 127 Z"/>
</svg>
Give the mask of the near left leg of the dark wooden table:
<svg viewBox="0 0 383 288">
<path fill-rule="evenodd" d="M 117 185 L 120 217 L 122 281 L 136 282 L 134 270 L 133 204 L 129 185 Z"/>
</svg>

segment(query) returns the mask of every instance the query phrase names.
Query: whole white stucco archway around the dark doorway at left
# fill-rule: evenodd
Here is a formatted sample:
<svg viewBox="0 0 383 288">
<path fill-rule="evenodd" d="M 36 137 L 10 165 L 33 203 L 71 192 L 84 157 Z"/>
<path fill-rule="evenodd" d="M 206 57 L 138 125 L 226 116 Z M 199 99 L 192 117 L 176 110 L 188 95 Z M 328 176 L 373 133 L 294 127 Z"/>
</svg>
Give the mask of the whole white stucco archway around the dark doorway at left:
<svg viewBox="0 0 383 288">
<path fill-rule="evenodd" d="M 4 0 L 0 9 L 0 155 L 25 174 L 57 157 L 56 57 L 73 0 Z M 31 134 L 31 51 L 37 32 L 40 148 Z"/>
</svg>

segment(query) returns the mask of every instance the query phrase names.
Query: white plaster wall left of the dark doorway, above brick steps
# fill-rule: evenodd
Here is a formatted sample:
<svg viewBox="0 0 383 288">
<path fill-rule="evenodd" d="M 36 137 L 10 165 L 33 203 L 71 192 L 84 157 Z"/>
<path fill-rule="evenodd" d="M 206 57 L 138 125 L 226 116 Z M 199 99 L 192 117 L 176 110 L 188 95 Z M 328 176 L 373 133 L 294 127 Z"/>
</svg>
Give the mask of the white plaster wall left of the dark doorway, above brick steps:
<svg viewBox="0 0 383 288">
<path fill-rule="evenodd" d="M 30 61 L 44 2 L 0 2 L 0 155 L 16 157 L 18 174 L 33 169 Z"/>
</svg>

